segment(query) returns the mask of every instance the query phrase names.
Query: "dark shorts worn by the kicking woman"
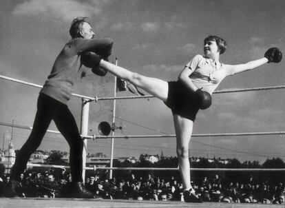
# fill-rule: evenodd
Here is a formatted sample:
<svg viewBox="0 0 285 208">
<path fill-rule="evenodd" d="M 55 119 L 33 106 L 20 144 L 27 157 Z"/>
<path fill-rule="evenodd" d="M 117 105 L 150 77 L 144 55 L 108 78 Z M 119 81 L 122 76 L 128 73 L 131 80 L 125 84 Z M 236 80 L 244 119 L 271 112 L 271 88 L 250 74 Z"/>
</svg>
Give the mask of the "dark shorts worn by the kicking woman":
<svg viewBox="0 0 285 208">
<path fill-rule="evenodd" d="M 165 105 L 171 109 L 172 114 L 178 114 L 191 121 L 195 121 L 199 110 L 197 95 L 184 87 L 180 81 L 168 82 L 168 96 Z"/>
</svg>

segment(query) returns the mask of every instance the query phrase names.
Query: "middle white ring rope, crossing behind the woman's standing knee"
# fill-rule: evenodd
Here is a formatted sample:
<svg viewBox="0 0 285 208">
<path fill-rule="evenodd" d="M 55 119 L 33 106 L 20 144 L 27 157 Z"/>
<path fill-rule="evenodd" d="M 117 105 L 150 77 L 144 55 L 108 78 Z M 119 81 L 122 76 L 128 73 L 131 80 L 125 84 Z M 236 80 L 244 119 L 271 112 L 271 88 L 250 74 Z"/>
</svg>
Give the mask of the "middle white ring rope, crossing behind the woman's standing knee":
<svg viewBox="0 0 285 208">
<path fill-rule="evenodd" d="M 3 123 L 0 121 L 0 125 L 8 126 L 8 127 L 17 127 L 20 129 L 32 129 L 32 127 L 25 126 L 25 125 L 16 125 L 12 123 Z M 47 129 L 47 132 L 54 133 L 54 134 L 61 134 L 59 131 L 54 131 Z M 223 134 L 193 134 L 192 137 L 209 137 L 209 136 L 261 136 L 261 135 L 284 135 L 285 132 L 244 132 L 244 133 L 223 133 Z M 97 138 L 169 138 L 169 137 L 176 137 L 176 134 L 165 134 L 165 135 L 118 135 L 118 136 L 83 136 L 82 138 L 87 139 L 97 139 Z"/>
</svg>

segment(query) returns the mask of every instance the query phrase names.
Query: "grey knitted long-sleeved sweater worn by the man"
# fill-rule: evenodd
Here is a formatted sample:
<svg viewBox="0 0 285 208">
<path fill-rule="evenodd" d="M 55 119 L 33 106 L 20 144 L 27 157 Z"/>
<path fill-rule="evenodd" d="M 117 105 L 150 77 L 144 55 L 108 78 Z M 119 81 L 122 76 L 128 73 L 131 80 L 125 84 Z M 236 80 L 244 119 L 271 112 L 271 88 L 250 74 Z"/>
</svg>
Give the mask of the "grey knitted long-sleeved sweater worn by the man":
<svg viewBox="0 0 285 208">
<path fill-rule="evenodd" d="M 40 93 L 66 105 L 72 95 L 74 83 L 81 79 L 81 52 L 96 52 L 106 60 L 112 53 L 112 45 L 113 40 L 109 38 L 70 40 L 54 61 L 52 72 L 47 76 Z"/>
</svg>

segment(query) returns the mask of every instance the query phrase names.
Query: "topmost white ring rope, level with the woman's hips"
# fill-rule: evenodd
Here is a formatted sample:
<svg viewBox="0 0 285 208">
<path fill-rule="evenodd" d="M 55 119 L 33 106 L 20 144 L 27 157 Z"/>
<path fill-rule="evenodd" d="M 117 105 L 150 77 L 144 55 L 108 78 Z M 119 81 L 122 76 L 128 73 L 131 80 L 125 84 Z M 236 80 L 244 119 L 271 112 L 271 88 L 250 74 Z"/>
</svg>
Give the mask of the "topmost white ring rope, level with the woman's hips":
<svg viewBox="0 0 285 208">
<path fill-rule="evenodd" d="M 43 87 L 42 85 L 37 85 L 34 83 L 29 83 L 26 81 L 20 81 L 19 79 L 13 79 L 10 78 L 8 76 L 3 76 L 0 74 L 0 78 L 1 79 L 6 79 L 9 81 L 14 81 L 17 83 L 22 83 L 25 85 L 30 85 L 30 86 L 34 86 L 34 87 Z M 268 87 L 253 87 L 253 88 L 244 88 L 244 89 L 236 89 L 236 90 L 217 90 L 215 92 L 213 92 L 213 94 L 221 94 L 221 93 L 229 93 L 229 92 L 249 92 L 249 91 L 259 91 L 259 90 L 277 90 L 277 89 L 284 89 L 285 85 L 279 85 L 279 86 L 268 86 Z M 147 95 L 147 96 L 116 96 L 116 97 L 105 97 L 105 98 L 98 98 L 97 96 L 95 97 L 90 97 L 90 96 L 84 96 L 81 94 L 72 94 L 72 96 L 77 96 L 80 98 L 86 98 L 89 100 L 89 102 L 91 101 L 109 101 L 109 100 L 123 100 L 123 99 L 134 99 L 134 98 L 154 98 L 154 96 L 152 95 Z"/>
</svg>

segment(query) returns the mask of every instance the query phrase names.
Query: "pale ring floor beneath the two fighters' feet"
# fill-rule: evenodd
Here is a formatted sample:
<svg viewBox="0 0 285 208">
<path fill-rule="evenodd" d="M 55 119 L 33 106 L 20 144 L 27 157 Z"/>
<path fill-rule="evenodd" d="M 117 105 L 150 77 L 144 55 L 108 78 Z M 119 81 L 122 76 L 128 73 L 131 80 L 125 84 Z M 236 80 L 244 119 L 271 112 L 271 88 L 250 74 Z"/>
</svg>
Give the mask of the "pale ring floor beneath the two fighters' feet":
<svg viewBox="0 0 285 208">
<path fill-rule="evenodd" d="M 283 208 L 285 205 L 264 205 L 264 204 L 238 204 L 238 203 L 219 203 L 219 202 L 204 202 L 197 203 L 184 203 L 184 202 L 162 202 L 150 200 L 88 200 L 88 199 L 73 199 L 73 198 L 0 198 L 1 208 L 39 208 L 39 207 L 96 207 L 96 208 Z"/>
</svg>

